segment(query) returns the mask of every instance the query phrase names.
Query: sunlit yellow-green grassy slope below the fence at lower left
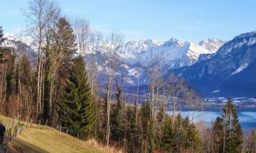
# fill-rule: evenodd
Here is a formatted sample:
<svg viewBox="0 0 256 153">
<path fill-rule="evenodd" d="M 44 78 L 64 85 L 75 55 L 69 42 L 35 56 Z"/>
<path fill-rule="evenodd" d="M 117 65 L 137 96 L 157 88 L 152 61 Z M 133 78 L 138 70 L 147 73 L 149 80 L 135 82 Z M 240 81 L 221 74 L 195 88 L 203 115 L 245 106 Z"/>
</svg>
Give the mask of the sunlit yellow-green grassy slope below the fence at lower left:
<svg viewBox="0 0 256 153">
<path fill-rule="evenodd" d="M 0 116 L 3 123 L 8 118 Z M 8 152 L 85 152 L 104 153 L 88 141 L 81 141 L 65 133 L 60 133 L 47 126 L 33 124 L 11 142 L 8 142 Z"/>
</svg>

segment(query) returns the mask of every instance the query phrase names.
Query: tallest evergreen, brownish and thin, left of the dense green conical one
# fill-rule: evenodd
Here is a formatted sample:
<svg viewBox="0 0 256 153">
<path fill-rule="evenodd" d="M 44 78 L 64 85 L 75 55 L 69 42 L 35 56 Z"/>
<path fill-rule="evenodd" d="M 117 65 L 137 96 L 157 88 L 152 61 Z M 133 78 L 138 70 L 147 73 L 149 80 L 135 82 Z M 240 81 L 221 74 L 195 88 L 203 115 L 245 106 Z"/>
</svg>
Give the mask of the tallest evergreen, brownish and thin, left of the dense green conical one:
<svg viewBox="0 0 256 153">
<path fill-rule="evenodd" d="M 58 103 L 61 99 L 66 83 L 64 80 L 68 79 L 68 72 L 72 69 L 70 63 L 76 52 L 75 35 L 66 18 L 59 18 L 55 29 L 47 35 L 46 42 L 43 118 L 53 120 L 55 101 Z"/>
</svg>

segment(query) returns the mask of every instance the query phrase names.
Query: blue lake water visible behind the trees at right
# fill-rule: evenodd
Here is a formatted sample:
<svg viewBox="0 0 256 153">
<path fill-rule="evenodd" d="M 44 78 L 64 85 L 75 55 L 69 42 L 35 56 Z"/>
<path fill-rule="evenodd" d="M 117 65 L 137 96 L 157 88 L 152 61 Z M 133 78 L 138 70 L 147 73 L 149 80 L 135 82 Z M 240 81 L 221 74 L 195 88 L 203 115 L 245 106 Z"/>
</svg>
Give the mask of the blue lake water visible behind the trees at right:
<svg viewBox="0 0 256 153">
<path fill-rule="evenodd" d="M 178 113 L 178 112 L 176 112 Z M 188 116 L 192 119 L 193 112 L 188 110 L 180 111 L 183 117 Z M 203 109 L 195 111 L 194 121 L 204 121 L 207 124 L 211 124 L 214 120 L 221 116 L 222 109 Z M 169 112 L 172 114 L 172 112 Z M 243 130 L 256 129 L 256 108 L 242 108 L 238 109 L 238 118 Z"/>
</svg>

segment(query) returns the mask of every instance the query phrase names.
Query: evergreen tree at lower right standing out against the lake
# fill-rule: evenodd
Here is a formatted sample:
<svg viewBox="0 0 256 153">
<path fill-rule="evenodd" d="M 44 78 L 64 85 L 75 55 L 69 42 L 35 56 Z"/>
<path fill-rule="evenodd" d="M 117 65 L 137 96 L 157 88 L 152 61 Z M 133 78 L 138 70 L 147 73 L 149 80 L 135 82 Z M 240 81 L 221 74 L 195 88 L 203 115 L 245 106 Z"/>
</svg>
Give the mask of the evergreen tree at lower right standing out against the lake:
<svg viewBox="0 0 256 153">
<path fill-rule="evenodd" d="M 242 152 L 242 129 L 231 99 L 225 105 L 221 118 L 214 122 L 214 134 L 218 152 Z"/>
</svg>

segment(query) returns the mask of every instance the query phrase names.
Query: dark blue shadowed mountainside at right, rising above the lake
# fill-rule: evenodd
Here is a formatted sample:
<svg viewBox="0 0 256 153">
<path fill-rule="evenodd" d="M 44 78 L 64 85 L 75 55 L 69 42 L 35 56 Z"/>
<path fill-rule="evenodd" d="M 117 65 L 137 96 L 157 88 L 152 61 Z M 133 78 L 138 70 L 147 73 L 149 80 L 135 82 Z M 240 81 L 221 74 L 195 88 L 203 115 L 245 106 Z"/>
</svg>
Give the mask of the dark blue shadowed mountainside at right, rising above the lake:
<svg viewBox="0 0 256 153">
<path fill-rule="evenodd" d="M 256 97 L 256 31 L 234 37 L 190 67 L 173 70 L 203 95 Z"/>
</svg>

